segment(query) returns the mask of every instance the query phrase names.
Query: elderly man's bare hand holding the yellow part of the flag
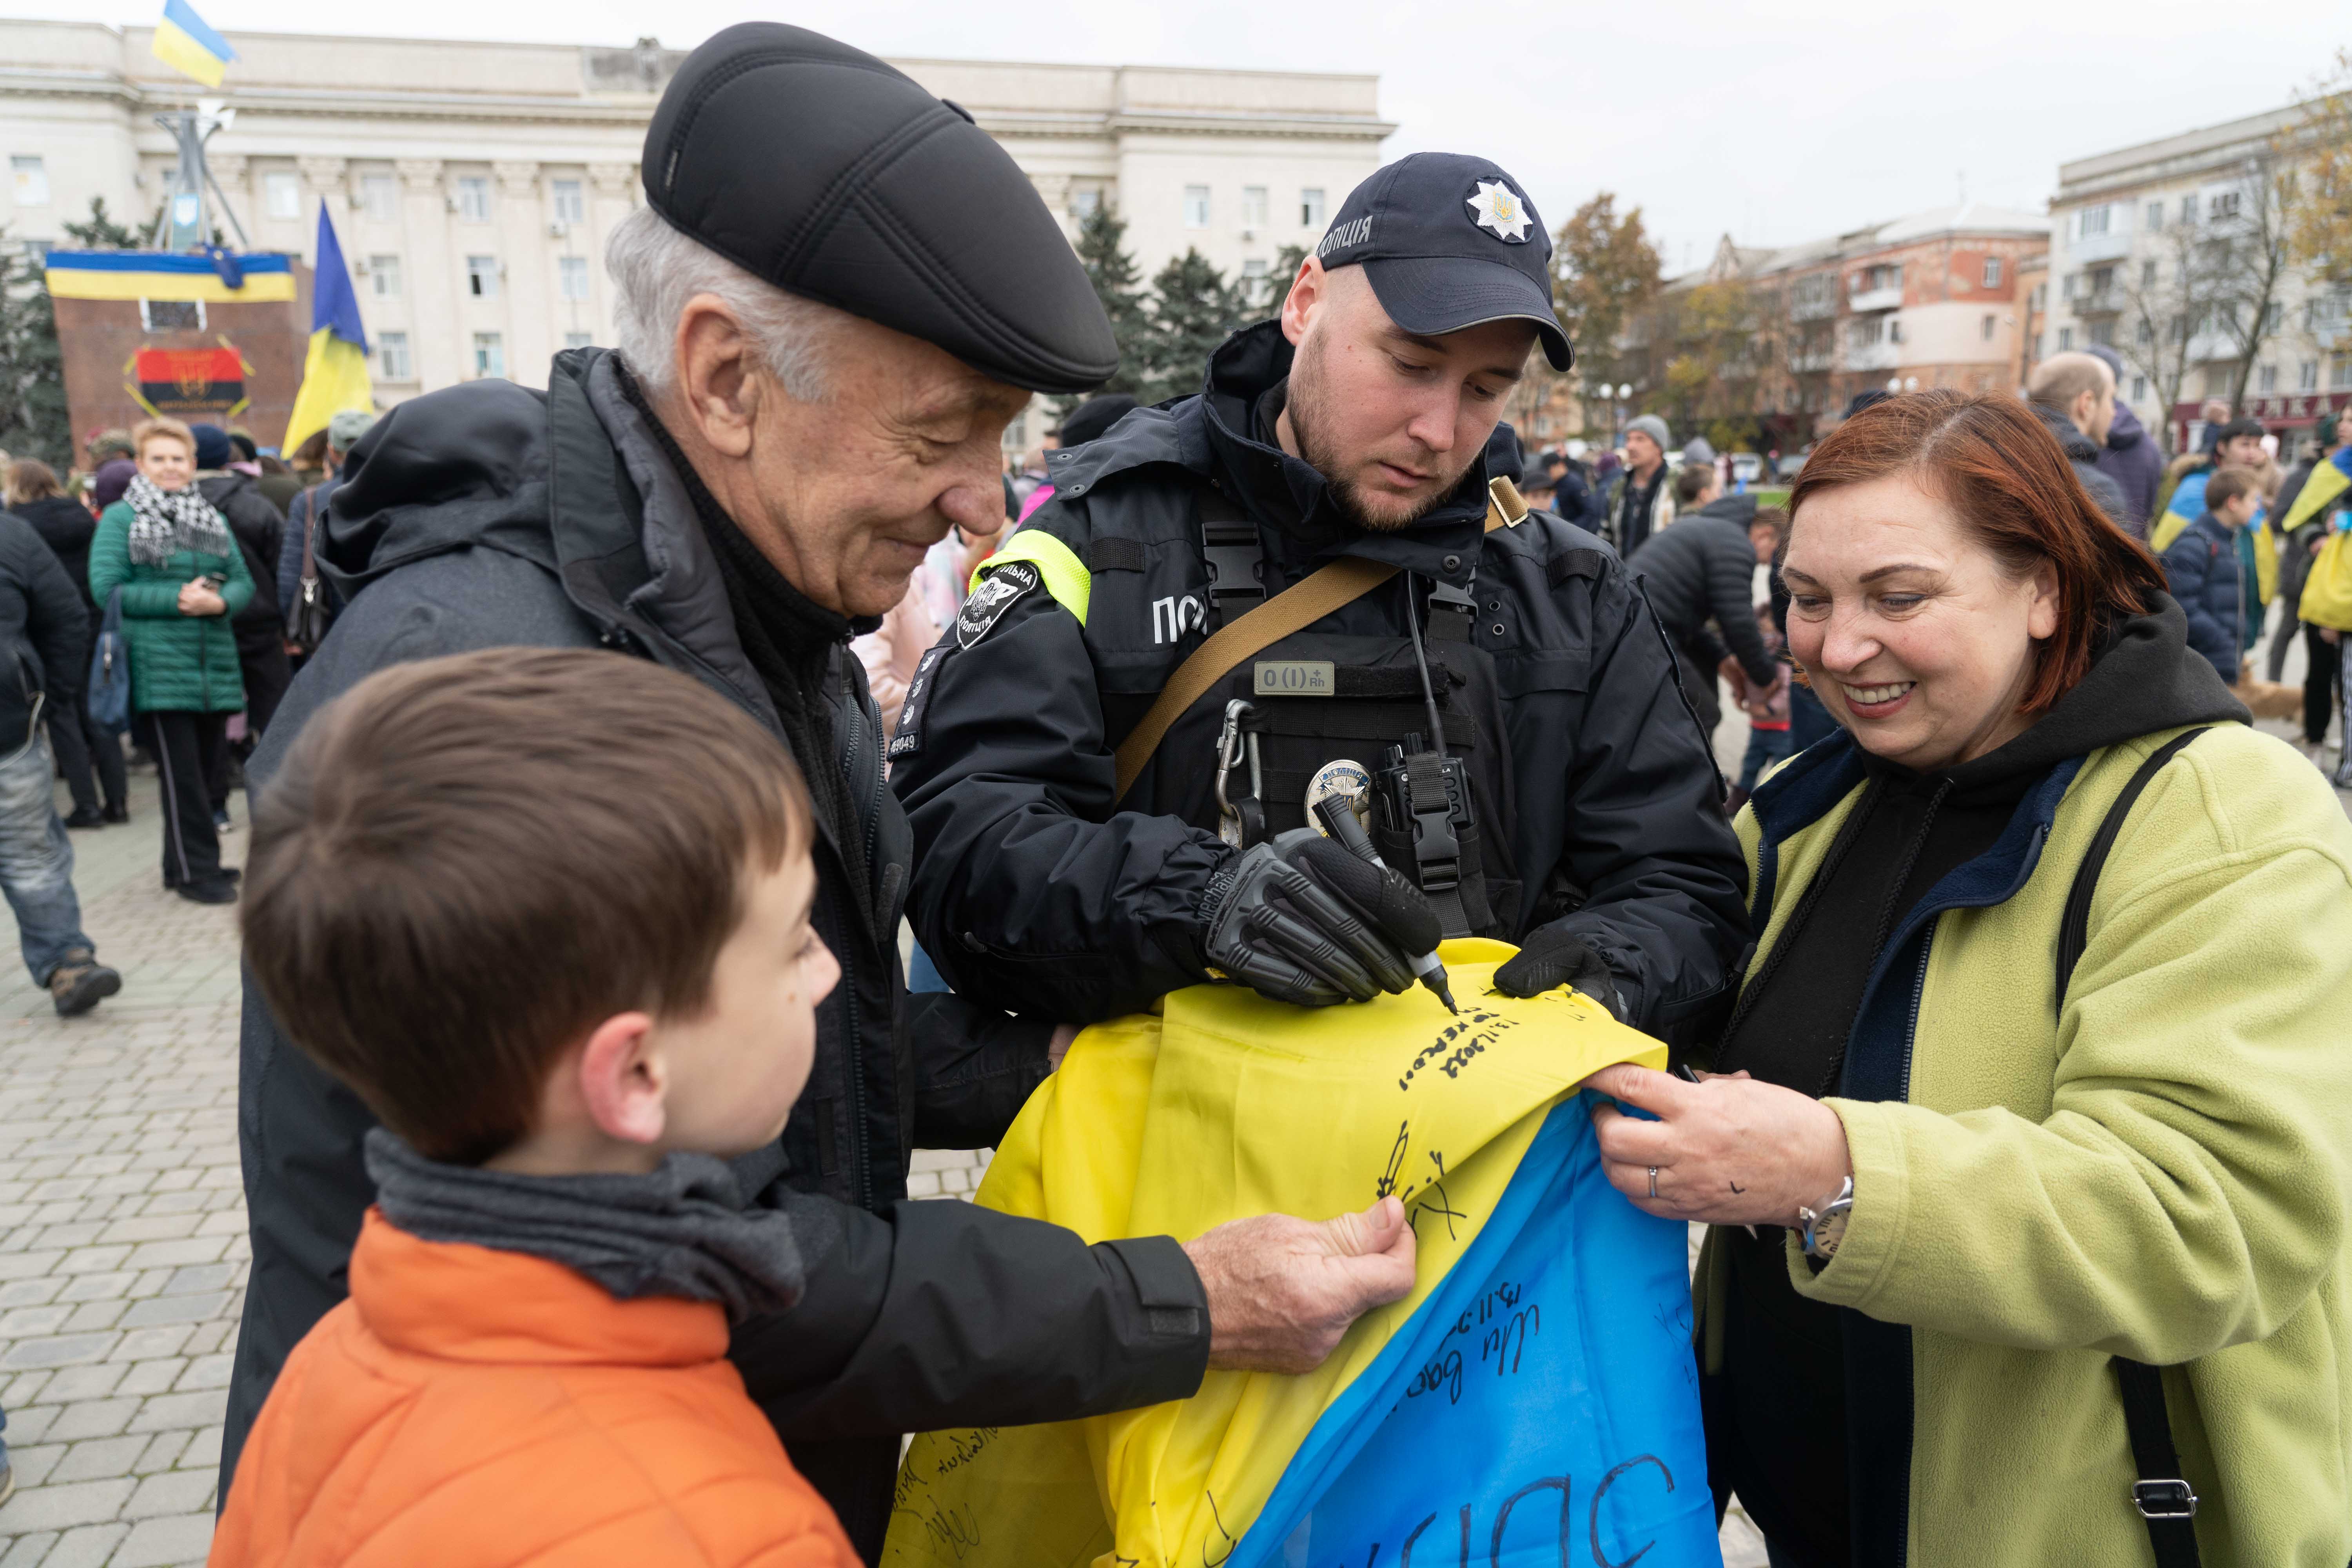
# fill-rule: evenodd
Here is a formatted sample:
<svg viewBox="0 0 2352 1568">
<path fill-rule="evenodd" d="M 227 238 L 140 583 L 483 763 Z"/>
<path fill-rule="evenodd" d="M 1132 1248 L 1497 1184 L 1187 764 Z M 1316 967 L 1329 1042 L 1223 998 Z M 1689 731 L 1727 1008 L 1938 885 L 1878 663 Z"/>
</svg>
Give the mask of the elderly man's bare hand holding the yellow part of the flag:
<svg viewBox="0 0 2352 1568">
<path fill-rule="evenodd" d="M 1310 1373 L 1355 1319 L 1414 1288 L 1404 1204 L 1315 1225 L 1287 1213 L 1230 1220 L 1188 1241 L 1209 1293 L 1209 1366 Z"/>
</svg>

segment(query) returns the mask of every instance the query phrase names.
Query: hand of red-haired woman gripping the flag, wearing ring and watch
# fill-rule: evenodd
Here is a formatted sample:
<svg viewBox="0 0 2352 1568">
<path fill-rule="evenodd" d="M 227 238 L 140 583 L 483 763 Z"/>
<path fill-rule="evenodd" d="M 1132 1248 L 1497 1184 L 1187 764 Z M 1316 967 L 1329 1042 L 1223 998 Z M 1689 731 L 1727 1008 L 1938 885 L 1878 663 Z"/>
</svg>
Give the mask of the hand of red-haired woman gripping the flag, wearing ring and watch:
<svg viewBox="0 0 2352 1568">
<path fill-rule="evenodd" d="M 1684 1084 L 1616 1065 L 1583 1086 L 1658 1117 L 1642 1121 L 1595 1105 L 1592 1131 L 1609 1185 L 1665 1220 L 1795 1225 L 1799 1204 L 1818 1204 L 1853 1173 L 1846 1124 L 1835 1110 L 1745 1072 Z"/>
</svg>

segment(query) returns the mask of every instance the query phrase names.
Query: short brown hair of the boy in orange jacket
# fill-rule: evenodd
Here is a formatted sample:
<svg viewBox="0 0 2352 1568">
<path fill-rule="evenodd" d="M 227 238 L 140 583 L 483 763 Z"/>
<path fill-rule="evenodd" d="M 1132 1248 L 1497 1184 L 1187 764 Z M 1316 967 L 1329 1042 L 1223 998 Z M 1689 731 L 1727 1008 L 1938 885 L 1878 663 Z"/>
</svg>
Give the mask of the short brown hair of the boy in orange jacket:
<svg viewBox="0 0 2352 1568">
<path fill-rule="evenodd" d="M 261 792 L 245 961 L 393 1133 L 480 1164 L 590 1027 L 701 1011 L 753 867 L 809 835 L 793 757 L 684 675 L 583 649 L 395 665 Z"/>
</svg>

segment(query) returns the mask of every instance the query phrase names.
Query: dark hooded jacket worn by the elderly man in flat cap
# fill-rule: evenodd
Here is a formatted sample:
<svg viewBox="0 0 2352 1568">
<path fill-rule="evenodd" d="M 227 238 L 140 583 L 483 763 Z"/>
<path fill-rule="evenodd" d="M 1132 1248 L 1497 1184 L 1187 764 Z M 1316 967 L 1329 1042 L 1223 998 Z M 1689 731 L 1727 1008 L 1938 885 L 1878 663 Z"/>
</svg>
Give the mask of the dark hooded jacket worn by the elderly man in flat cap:
<svg viewBox="0 0 2352 1568">
<path fill-rule="evenodd" d="M 350 597 L 254 755 L 266 788 L 301 724 L 369 672 L 482 646 L 607 646 L 684 670 L 779 736 L 743 656 L 713 550 L 677 473 L 604 350 L 567 350 L 548 393 L 475 381 L 400 404 L 360 442 L 327 524 L 325 571 Z M 866 898 L 830 835 L 816 922 L 842 959 L 816 1065 L 781 1145 L 736 1161 L 786 1208 L 809 1291 L 736 1331 L 734 1361 L 788 1441 L 1065 1420 L 1188 1396 L 1207 1368 L 1200 1276 L 1167 1239 L 1087 1246 L 971 1204 L 903 1201 L 917 1145 L 995 1143 L 1044 1077 L 1049 1025 L 955 997 L 901 1011 L 908 830 L 882 788 L 863 670 L 828 670 L 837 757 L 870 851 Z M 861 905 L 870 900 L 868 919 Z M 245 994 L 238 1133 L 254 1267 L 238 1338 L 223 1495 L 294 1342 L 343 1295 L 372 1199 L 372 1117 Z M 887 1474 L 884 1474 L 887 1497 Z"/>
</svg>

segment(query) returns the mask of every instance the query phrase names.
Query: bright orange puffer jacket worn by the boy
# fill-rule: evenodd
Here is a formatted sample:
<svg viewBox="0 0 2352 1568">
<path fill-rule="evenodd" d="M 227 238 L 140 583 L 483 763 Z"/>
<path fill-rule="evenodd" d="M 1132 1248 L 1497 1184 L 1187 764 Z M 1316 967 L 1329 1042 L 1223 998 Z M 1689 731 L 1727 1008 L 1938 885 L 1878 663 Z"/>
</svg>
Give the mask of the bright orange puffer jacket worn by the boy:
<svg viewBox="0 0 2352 1568">
<path fill-rule="evenodd" d="M 367 1211 L 350 1300 L 278 1375 L 214 1568 L 856 1568 L 727 1361 L 715 1302 Z"/>
</svg>

